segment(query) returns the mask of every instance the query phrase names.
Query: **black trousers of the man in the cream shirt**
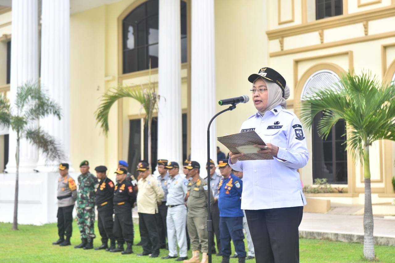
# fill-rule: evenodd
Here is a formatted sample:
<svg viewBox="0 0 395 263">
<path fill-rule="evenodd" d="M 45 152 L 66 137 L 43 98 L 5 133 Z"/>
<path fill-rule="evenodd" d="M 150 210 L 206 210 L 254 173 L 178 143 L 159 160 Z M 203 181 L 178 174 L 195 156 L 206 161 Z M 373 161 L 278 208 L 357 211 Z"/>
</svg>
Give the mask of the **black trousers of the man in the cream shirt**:
<svg viewBox="0 0 395 263">
<path fill-rule="evenodd" d="M 139 213 L 139 228 L 143 252 L 159 255 L 159 233 L 155 214 Z"/>
</svg>

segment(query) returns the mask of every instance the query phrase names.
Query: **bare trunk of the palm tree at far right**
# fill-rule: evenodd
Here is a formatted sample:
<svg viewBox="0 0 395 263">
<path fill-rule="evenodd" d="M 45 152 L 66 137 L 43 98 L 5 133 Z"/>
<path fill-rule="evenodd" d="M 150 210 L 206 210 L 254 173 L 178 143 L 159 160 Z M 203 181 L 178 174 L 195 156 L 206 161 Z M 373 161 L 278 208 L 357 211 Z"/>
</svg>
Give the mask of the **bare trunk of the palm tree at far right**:
<svg viewBox="0 0 395 263">
<path fill-rule="evenodd" d="M 374 254 L 374 239 L 373 239 L 373 211 L 372 211 L 372 190 L 371 190 L 371 174 L 369 163 L 369 146 L 366 146 L 363 151 L 363 165 L 365 177 L 365 210 L 363 213 L 363 255 L 366 259 L 373 261 Z"/>
</svg>

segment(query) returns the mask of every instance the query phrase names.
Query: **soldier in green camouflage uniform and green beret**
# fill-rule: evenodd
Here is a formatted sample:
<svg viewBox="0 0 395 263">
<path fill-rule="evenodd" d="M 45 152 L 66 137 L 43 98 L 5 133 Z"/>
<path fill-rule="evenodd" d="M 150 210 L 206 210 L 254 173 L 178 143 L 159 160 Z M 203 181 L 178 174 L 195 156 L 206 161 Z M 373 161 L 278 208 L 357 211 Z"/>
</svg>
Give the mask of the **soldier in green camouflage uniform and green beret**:
<svg viewBox="0 0 395 263">
<path fill-rule="evenodd" d="M 81 175 L 78 176 L 78 195 L 77 195 L 77 224 L 81 235 L 81 244 L 74 248 L 93 248 L 95 223 L 95 197 L 98 179 L 89 173 L 89 162 L 83 161 L 79 168 Z"/>
</svg>

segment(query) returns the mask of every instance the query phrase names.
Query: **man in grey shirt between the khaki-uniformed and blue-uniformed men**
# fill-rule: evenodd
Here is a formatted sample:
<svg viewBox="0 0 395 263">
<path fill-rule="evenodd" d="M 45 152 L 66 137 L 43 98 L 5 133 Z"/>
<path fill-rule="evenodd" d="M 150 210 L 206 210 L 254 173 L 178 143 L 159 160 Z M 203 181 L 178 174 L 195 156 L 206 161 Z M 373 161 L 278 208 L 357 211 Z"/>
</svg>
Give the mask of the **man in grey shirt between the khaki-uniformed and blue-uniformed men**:
<svg viewBox="0 0 395 263">
<path fill-rule="evenodd" d="M 218 209 L 218 186 L 220 183 L 220 180 L 223 178 L 222 175 L 218 175 L 215 172 L 215 163 L 213 160 L 210 159 L 210 162 L 207 163 L 207 165 L 210 165 L 210 184 L 211 184 L 211 191 L 213 191 L 214 195 L 214 205 L 213 208 L 211 209 L 211 219 L 213 220 L 213 231 L 215 233 L 215 238 L 217 240 L 217 248 L 218 248 L 218 256 L 221 255 L 221 240 L 220 240 L 220 210 Z M 206 170 L 207 170 L 207 165 L 206 165 Z M 207 177 L 205 178 L 207 182 Z M 213 254 L 215 254 L 215 242 L 214 242 L 214 235 L 211 235 L 212 242 L 211 242 L 211 250 Z"/>
</svg>

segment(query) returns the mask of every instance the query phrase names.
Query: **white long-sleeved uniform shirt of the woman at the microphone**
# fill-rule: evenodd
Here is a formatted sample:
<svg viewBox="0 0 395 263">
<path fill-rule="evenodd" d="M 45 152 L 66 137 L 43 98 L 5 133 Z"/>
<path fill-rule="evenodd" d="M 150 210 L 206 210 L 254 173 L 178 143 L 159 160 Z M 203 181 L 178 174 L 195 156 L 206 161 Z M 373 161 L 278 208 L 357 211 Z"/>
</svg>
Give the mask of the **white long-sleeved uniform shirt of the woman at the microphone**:
<svg viewBox="0 0 395 263">
<path fill-rule="evenodd" d="M 255 130 L 265 143 L 279 147 L 274 160 L 237 161 L 229 165 L 243 171 L 241 209 L 259 210 L 306 205 L 298 168 L 308 161 L 301 122 L 280 105 L 261 116 L 250 116 L 240 132 Z M 286 160 L 286 162 L 282 160 Z"/>
</svg>

